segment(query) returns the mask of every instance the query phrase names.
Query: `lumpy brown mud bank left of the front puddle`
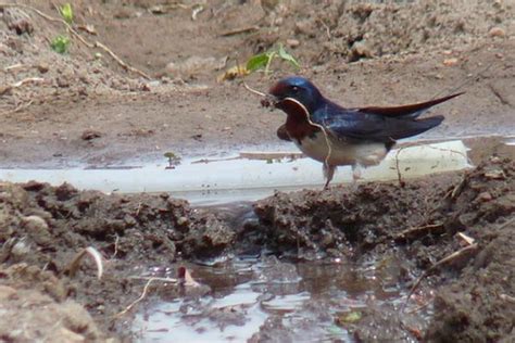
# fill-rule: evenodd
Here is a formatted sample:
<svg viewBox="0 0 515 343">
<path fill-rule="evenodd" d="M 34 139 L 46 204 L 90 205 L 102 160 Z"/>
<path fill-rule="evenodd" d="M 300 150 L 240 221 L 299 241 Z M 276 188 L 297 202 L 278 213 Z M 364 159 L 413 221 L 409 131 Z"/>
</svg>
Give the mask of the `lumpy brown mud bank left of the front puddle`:
<svg viewBox="0 0 515 343">
<path fill-rule="evenodd" d="M 29 300 L 36 297 L 34 304 L 29 301 L 32 306 L 39 308 L 56 302 L 64 318 L 81 316 L 81 325 L 66 319 L 64 329 L 87 340 L 101 335 L 87 313 L 77 315 L 76 304 L 67 307 L 68 298 L 87 308 L 102 329 L 118 330 L 121 321 L 113 320 L 113 315 L 140 292 L 141 281 L 131 276 L 181 257 L 221 253 L 235 237 L 214 215 L 191 209 L 187 202 L 166 194 L 105 195 L 78 192 L 67 185 L 53 188 L 30 182 L 1 183 L 0 195 L 0 274 L 1 283 L 9 287 L 2 291 L 8 307 L 21 307 L 23 302 L 15 300 L 26 295 L 14 289 L 38 291 L 26 295 Z M 97 249 L 105 259 L 101 280 L 88 263 L 75 278 L 67 276 L 70 263 L 87 246 Z M 13 322 L 23 322 L 23 313 L 13 312 L 14 317 L 21 316 Z M 59 332 L 59 327 L 46 325 L 47 317 L 43 312 L 33 318 L 32 325 L 40 329 L 23 339 L 42 339 Z M 0 336 L 16 341 L 12 326 L 3 323 Z M 116 335 L 123 336 L 123 331 Z"/>
</svg>

